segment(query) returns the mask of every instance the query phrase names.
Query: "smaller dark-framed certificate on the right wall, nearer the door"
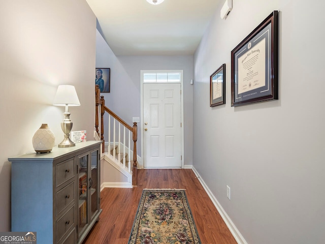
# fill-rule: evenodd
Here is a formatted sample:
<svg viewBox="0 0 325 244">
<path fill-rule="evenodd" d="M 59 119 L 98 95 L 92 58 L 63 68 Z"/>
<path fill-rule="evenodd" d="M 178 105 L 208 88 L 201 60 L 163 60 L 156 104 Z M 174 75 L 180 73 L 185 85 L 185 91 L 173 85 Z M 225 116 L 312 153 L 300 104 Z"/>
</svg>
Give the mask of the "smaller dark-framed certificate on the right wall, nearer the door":
<svg viewBox="0 0 325 244">
<path fill-rule="evenodd" d="M 210 107 L 225 104 L 225 64 L 210 76 Z"/>
</svg>

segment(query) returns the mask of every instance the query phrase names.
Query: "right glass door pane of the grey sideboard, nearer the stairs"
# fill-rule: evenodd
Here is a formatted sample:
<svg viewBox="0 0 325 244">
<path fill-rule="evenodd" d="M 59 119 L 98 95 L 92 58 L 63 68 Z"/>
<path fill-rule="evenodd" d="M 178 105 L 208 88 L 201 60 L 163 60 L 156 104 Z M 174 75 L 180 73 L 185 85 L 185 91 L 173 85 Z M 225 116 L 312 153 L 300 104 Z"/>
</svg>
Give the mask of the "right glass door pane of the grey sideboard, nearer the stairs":
<svg viewBox="0 0 325 244">
<path fill-rule="evenodd" d="M 95 150 L 91 153 L 91 219 L 99 210 L 98 200 L 98 164 L 99 164 L 99 151 Z"/>
</svg>

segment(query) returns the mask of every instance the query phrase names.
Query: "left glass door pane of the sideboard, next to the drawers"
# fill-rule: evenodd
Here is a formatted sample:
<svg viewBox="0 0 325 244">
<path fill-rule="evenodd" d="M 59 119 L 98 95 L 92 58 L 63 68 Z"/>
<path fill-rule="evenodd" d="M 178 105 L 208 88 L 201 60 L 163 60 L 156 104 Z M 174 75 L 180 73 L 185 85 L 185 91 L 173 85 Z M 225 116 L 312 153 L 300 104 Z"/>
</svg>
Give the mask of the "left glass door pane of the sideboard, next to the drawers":
<svg viewBox="0 0 325 244">
<path fill-rule="evenodd" d="M 88 221 L 88 155 L 79 158 L 79 208 L 78 208 L 78 223 L 79 223 L 79 236 L 86 228 Z"/>
</svg>

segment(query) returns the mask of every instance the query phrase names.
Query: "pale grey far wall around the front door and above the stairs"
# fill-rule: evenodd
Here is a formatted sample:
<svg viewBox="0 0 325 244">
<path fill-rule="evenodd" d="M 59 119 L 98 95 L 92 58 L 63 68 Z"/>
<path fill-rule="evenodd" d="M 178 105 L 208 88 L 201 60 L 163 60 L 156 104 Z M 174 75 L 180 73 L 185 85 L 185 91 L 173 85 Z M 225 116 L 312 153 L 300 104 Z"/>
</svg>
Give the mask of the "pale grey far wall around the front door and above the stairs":
<svg viewBox="0 0 325 244">
<path fill-rule="evenodd" d="M 184 163 L 192 164 L 193 57 L 186 56 L 115 56 L 103 37 L 97 32 L 96 67 L 111 68 L 111 93 L 104 95 L 106 106 L 127 124 L 133 125 L 132 117 L 141 117 L 140 71 L 184 71 Z M 137 153 L 141 156 L 141 123 L 138 124 Z"/>
</svg>

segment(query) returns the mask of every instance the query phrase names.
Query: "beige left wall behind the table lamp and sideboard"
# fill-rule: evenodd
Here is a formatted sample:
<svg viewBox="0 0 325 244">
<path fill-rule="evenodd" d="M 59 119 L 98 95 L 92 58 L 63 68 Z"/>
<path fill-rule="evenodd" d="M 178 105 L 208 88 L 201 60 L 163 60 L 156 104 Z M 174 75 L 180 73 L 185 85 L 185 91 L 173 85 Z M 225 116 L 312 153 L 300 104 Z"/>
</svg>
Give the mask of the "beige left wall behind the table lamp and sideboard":
<svg viewBox="0 0 325 244">
<path fill-rule="evenodd" d="M 0 231 L 10 231 L 8 157 L 34 151 L 42 123 L 61 142 L 64 108 L 52 105 L 59 84 L 75 85 L 81 106 L 69 109 L 73 130 L 92 139 L 96 18 L 86 1 L 2 1 L 0 29 Z"/>
</svg>

